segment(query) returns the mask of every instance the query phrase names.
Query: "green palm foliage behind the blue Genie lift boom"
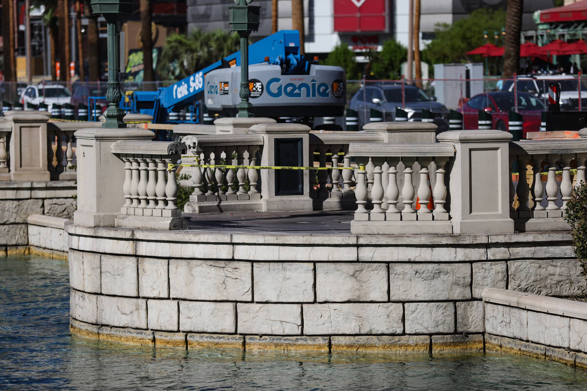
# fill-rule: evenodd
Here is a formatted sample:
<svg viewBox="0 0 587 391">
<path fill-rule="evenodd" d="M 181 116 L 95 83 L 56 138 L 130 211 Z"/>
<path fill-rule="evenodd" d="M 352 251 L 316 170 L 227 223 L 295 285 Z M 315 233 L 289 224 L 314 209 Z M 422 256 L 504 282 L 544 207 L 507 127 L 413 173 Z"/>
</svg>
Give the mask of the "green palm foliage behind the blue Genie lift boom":
<svg viewBox="0 0 587 391">
<path fill-rule="evenodd" d="M 161 51 L 157 72 L 163 80 L 183 79 L 239 49 L 238 34 L 226 30 L 194 29 L 188 35 L 171 34 Z"/>
</svg>

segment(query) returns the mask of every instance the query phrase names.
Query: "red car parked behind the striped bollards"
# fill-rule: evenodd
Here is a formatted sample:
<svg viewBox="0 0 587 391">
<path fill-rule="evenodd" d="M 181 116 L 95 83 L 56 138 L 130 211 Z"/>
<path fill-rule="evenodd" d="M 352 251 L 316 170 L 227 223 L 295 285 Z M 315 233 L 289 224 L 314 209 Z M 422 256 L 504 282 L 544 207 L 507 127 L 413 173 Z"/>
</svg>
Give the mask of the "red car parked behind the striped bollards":
<svg viewBox="0 0 587 391">
<path fill-rule="evenodd" d="M 479 110 L 485 110 L 491 114 L 492 129 L 508 131 L 508 114 L 513 108 L 513 92 L 494 91 L 475 95 L 463 105 L 464 129 L 478 129 Z M 538 97 L 518 92 L 518 113 L 524 116 L 523 138 L 526 138 L 527 132 L 540 130 L 540 116 L 545 110 L 544 104 Z"/>
</svg>

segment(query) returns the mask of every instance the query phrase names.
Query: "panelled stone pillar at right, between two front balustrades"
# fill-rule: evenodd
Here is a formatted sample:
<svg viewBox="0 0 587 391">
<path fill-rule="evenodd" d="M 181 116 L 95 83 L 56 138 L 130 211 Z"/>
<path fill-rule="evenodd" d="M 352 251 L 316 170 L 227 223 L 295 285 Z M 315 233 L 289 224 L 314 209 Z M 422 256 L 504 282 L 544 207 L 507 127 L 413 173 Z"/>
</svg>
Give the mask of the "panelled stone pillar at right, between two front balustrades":
<svg viewBox="0 0 587 391">
<path fill-rule="evenodd" d="M 453 233 L 513 233 L 510 218 L 509 142 L 498 130 L 453 130 L 438 141 L 454 145 L 450 168 Z"/>
</svg>

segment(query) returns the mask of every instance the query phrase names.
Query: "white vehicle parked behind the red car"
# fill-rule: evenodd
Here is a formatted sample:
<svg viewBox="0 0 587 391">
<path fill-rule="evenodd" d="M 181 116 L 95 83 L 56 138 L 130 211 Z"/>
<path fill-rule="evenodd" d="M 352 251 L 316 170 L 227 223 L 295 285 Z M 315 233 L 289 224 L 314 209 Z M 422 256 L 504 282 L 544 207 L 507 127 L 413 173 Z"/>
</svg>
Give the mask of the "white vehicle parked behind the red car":
<svg viewBox="0 0 587 391">
<path fill-rule="evenodd" d="M 561 84 L 561 110 L 579 110 L 579 90 L 576 77 L 566 74 L 518 76 L 517 90 L 541 97 L 548 104 L 548 84 Z M 514 80 L 505 80 L 502 91 L 514 91 Z M 587 109 L 587 87 L 581 83 L 581 110 Z"/>
</svg>

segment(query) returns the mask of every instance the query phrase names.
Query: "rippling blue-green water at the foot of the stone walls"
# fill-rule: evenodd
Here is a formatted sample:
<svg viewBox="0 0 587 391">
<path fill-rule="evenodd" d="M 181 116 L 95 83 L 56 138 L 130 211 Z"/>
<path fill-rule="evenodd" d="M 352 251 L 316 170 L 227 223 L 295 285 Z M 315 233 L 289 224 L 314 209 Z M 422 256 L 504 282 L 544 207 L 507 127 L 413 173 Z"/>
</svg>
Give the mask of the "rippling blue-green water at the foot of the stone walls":
<svg viewBox="0 0 587 391">
<path fill-rule="evenodd" d="M 583 390 L 587 372 L 525 356 L 187 352 L 71 335 L 66 261 L 0 259 L 0 389 Z"/>
</svg>

